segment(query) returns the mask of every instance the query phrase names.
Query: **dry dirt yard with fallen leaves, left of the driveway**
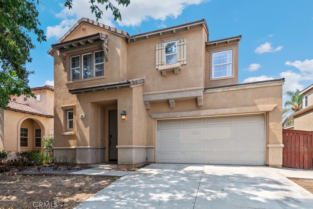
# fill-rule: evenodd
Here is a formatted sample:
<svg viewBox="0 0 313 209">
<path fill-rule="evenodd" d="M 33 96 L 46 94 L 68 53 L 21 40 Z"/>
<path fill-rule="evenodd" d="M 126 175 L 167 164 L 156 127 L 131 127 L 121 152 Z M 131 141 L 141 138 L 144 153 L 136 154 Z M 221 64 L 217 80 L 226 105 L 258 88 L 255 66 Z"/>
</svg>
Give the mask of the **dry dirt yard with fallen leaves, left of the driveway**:
<svg viewBox="0 0 313 209">
<path fill-rule="evenodd" d="M 0 209 L 73 208 L 116 179 L 111 176 L 0 174 Z"/>
</svg>

